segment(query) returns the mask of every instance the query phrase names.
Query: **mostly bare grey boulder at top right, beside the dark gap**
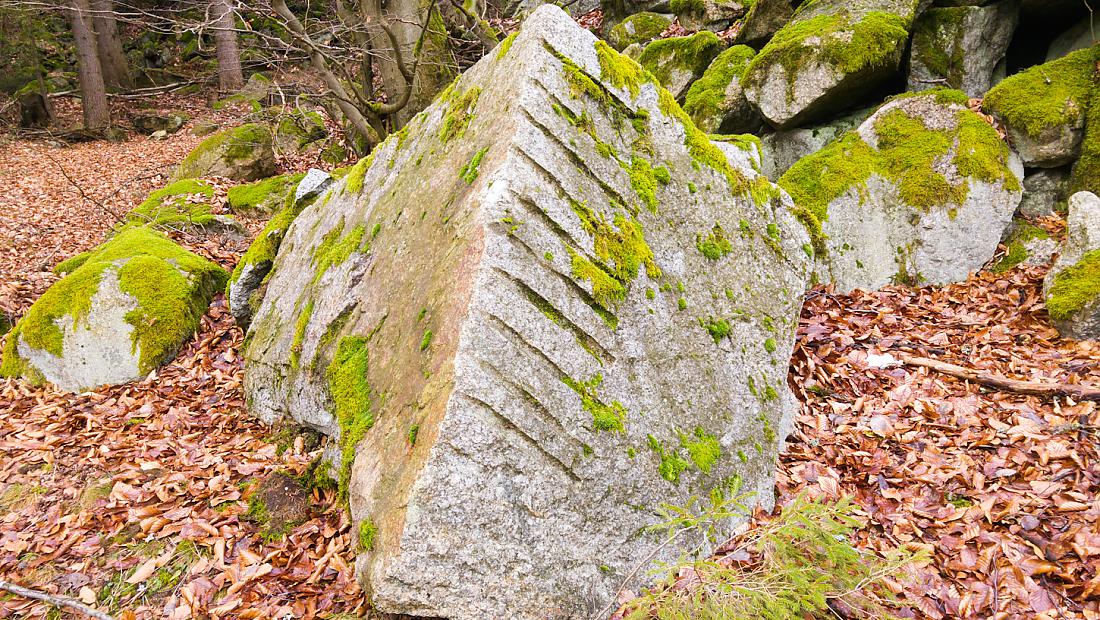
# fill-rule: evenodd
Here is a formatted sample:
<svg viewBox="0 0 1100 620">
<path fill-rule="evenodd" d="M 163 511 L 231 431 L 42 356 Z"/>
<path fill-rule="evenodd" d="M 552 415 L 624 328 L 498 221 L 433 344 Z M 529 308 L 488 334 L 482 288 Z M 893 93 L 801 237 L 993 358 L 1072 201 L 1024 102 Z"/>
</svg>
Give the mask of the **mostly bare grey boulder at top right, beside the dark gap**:
<svg viewBox="0 0 1100 620">
<path fill-rule="evenodd" d="M 993 86 L 1019 19 L 1015 0 L 926 11 L 913 23 L 909 90 L 947 86 L 981 97 Z"/>
</svg>

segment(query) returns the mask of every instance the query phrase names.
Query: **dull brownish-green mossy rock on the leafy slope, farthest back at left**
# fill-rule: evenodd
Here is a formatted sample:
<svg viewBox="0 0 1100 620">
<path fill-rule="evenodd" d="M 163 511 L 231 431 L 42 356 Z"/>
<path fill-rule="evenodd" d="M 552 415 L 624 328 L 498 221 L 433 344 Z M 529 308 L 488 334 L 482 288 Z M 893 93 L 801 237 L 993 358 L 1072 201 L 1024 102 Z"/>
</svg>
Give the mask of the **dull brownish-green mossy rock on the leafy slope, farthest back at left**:
<svg viewBox="0 0 1100 620">
<path fill-rule="evenodd" d="M 272 132 L 249 123 L 204 140 L 176 168 L 175 179 L 226 177 L 249 181 L 275 174 Z"/>
</svg>

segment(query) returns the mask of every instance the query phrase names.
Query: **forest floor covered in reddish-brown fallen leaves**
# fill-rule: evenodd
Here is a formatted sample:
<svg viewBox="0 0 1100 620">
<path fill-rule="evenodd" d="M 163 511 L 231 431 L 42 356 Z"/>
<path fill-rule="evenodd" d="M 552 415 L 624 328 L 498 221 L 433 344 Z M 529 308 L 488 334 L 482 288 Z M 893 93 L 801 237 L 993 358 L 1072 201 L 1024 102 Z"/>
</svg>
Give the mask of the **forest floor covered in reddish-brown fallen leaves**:
<svg viewBox="0 0 1100 620">
<path fill-rule="evenodd" d="M 191 123 L 211 117 L 201 101 L 158 103 L 194 110 Z M 18 318 L 54 264 L 102 240 L 113 219 L 95 201 L 125 211 L 163 185 L 150 175 L 197 144 L 190 126 L 163 142 L 4 143 L 0 311 Z M 245 245 L 176 236 L 227 266 Z M 928 562 L 891 579 L 900 616 L 1100 618 L 1094 403 L 867 364 L 871 353 L 910 353 L 1100 386 L 1100 345 L 1048 324 L 1044 272 L 807 295 L 789 379 L 802 406 L 779 503 L 850 495 L 866 519 L 858 546 L 925 550 Z M 283 538 L 245 517 L 253 483 L 302 473 L 319 449 L 249 418 L 242 337 L 219 296 L 176 361 L 144 381 L 68 395 L 0 379 L 0 578 L 136 618 L 365 615 L 330 491 L 314 491 L 311 517 Z M 8 617 L 57 612 L 2 596 Z"/>
</svg>

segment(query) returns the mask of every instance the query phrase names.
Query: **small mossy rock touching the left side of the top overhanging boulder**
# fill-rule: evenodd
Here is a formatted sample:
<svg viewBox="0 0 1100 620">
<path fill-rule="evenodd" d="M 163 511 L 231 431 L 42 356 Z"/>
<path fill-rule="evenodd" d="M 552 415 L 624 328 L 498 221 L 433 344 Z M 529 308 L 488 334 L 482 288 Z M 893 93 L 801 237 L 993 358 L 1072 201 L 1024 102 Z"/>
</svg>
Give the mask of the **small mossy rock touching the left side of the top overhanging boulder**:
<svg viewBox="0 0 1100 620">
<path fill-rule="evenodd" d="M 741 79 L 756 51 L 735 45 L 714 59 L 688 89 L 684 112 L 707 133 L 744 133 L 760 129 L 757 114 L 741 88 Z"/>
</svg>

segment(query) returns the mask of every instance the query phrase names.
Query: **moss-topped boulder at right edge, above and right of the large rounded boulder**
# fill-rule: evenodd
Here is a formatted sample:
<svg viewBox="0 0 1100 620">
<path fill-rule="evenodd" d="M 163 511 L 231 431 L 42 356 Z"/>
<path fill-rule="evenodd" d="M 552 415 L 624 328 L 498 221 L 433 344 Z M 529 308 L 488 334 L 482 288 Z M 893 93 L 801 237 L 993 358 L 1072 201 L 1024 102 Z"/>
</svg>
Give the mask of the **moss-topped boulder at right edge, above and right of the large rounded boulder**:
<svg viewBox="0 0 1100 620">
<path fill-rule="evenodd" d="M 993 87 L 982 110 L 1004 124 L 1024 165 L 1057 167 L 1080 153 L 1100 46 L 1032 67 Z"/>
</svg>

